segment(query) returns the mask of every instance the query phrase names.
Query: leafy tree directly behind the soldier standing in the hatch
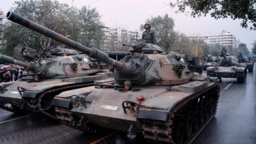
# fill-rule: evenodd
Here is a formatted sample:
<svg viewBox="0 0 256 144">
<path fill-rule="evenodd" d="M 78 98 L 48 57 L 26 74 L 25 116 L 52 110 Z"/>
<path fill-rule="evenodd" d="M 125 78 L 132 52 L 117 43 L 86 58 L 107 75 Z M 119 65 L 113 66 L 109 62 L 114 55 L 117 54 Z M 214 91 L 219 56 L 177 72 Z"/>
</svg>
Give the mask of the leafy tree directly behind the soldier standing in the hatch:
<svg viewBox="0 0 256 144">
<path fill-rule="evenodd" d="M 156 33 L 156 40 L 160 39 L 158 45 L 169 50 L 173 47 L 175 41 L 175 32 L 173 31 L 174 20 L 169 17 L 168 14 L 165 16 L 156 16 L 148 18 L 145 23 L 150 23 L 152 31 Z M 144 24 L 141 24 L 141 30 L 144 29 Z"/>
</svg>

